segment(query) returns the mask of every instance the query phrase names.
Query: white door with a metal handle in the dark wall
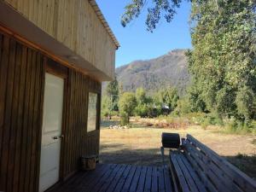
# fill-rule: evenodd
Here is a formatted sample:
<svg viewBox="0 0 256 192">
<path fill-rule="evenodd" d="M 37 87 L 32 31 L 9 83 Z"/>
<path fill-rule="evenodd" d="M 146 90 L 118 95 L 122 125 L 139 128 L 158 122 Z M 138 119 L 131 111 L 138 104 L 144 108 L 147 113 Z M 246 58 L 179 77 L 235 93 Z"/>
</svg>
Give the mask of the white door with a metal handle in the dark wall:
<svg viewBox="0 0 256 192">
<path fill-rule="evenodd" d="M 45 73 L 39 192 L 58 182 L 64 79 Z"/>
</svg>

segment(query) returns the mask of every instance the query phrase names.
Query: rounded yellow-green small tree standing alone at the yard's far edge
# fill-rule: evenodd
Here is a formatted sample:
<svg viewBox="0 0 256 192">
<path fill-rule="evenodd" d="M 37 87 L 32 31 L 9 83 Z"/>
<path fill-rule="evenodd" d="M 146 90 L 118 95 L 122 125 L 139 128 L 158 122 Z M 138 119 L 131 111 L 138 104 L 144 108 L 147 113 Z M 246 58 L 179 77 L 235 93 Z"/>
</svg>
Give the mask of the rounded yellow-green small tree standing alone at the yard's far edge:
<svg viewBox="0 0 256 192">
<path fill-rule="evenodd" d="M 136 96 L 134 93 L 125 92 L 119 99 L 119 113 L 121 119 L 124 118 L 125 122 L 129 123 L 131 115 L 137 106 Z"/>
</svg>

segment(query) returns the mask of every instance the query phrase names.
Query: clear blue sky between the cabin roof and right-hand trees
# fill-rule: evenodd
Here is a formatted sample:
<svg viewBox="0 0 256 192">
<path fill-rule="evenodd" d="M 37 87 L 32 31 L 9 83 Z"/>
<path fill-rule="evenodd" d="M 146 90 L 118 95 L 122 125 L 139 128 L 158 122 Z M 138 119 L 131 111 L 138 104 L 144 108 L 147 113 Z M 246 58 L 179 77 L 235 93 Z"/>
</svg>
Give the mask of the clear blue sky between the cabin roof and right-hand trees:
<svg viewBox="0 0 256 192">
<path fill-rule="evenodd" d="M 150 2 L 151 0 L 148 0 Z M 147 60 L 164 55 L 172 49 L 191 48 L 189 34 L 190 3 L 186 1 L 177 10 L 177 15 L 171 23 L 164 18 L 153 33 L 145 26 L 147 10 L 137 20 L 128 26 L 120 24 L 120 17 L 124 13 L 125 4 L 129 0 L 96 0 L 114 35 L 121 47 L 116 52 L 116 67 L 135 60 Z"/>
</svg>

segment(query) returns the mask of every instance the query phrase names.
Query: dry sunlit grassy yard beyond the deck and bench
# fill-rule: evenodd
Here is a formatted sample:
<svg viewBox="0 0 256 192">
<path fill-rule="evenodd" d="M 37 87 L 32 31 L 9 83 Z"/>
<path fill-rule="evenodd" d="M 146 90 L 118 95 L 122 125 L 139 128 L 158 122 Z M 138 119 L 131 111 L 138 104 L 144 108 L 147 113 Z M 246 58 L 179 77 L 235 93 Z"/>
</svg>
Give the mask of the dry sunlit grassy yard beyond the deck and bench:
<svg viewBox="0 0 256 192">
<path fill-rule="evenodd" d="M 109 121 L 102 124 L 101 162 L 158 166 L 162 164 L 161 133 L 177 132 L 182 137 L 189 133 L 247 175 L 256 178 L 256 136 L 224 134 L 218 127 L 208 127 L 204 130 L 199 125 L 183 129 L 149 128 L 141 125 L 133 125 L 125 130 L 108 129 L 109 125 L 116 124 Z"/>
</svg>

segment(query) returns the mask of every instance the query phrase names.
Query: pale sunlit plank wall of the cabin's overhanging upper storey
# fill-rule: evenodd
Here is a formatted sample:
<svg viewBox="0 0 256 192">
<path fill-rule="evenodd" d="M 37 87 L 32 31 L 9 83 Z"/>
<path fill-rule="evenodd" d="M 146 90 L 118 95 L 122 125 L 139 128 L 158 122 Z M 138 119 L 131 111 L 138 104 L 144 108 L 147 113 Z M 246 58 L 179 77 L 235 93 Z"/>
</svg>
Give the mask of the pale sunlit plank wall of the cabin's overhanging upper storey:
<svg viewBox="0 0 256 192">
<path fill-rule="evenodd" d="M 113 78 L 116 45 L 87 0 L 4 2 Z"/>
</svg>

